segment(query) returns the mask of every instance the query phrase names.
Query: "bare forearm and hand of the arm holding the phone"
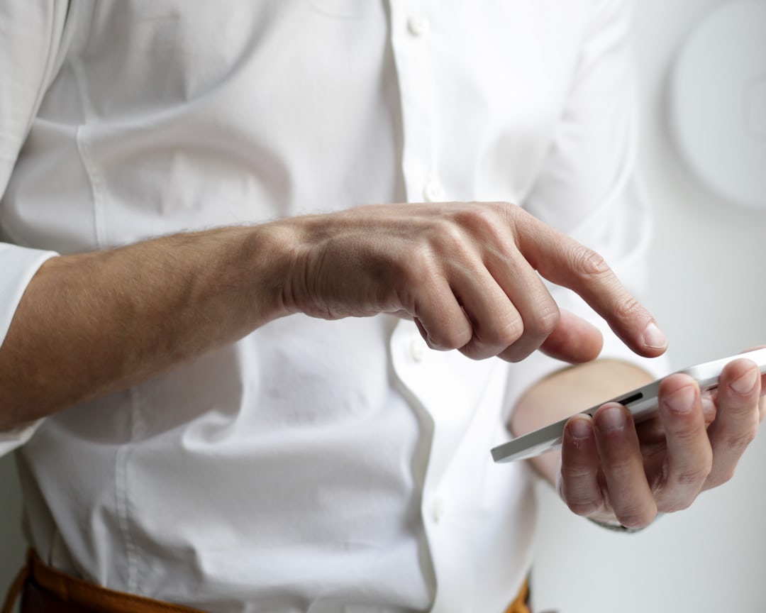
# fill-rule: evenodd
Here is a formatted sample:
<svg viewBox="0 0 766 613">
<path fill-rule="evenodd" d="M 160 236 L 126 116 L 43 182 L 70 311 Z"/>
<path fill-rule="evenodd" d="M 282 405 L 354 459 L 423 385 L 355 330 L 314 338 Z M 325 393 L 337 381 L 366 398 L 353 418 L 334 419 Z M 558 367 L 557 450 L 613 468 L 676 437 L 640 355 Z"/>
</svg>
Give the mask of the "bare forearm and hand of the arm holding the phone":
<svg viewBox="0 0 766 613">
<path fill-rule="evenodd" d="M 766 415 L 764 379 L 754 362 L 734 360 L 723 370 L 718 391 L 702 396 L 694 379 L 671 375 L 660 385 L 658 418 L 635 426 L 627 409 L 607 403 L 594 418 L 571 418 L 561 452 L 532 464 L 574 513 L 647 526 L 656 513 L 686 509 L 699 493 L 733 476 Z M 558 372 L 519 401 L 512 430 L 531 431 L 647 382 L 646 372 L 624 362 Z"/>
</svg>

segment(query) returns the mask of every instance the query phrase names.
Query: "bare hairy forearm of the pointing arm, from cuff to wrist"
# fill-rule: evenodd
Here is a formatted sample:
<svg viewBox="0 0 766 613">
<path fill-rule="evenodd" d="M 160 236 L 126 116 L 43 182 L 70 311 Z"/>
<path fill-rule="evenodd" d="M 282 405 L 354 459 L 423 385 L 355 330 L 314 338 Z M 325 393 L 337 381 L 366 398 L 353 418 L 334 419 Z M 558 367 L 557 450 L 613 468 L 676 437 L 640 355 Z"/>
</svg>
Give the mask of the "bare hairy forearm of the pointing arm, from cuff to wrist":
<svg viewBox="0 0 766 613">
<path fill-rule="evenodd" d="M 38 271 L 0 346 L 0 429 L 132 385 L 286 313 L 278 225 L 62 256 Z"/>
</svg>

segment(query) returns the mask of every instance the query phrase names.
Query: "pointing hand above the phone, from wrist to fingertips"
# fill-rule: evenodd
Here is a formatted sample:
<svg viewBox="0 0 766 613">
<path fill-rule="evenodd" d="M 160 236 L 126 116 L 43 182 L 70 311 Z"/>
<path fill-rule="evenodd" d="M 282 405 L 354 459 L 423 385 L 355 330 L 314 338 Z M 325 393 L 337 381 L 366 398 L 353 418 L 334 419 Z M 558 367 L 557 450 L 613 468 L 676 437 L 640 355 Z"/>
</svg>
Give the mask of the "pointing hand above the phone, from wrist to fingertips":
<svg viewBox="0 0 766 613">
<path fill-rule="evenodd" d="M 660 355 L 650 313 L 594 251 L 507 203 L 375 205 L 290 221 L 287 310 L 404 313 L 434 349 L 516 362 L 536 349 L 594 359 L 601 335 L 561 312 L 538 273 L 579 293 L 631 349 Z"/>
</svg>

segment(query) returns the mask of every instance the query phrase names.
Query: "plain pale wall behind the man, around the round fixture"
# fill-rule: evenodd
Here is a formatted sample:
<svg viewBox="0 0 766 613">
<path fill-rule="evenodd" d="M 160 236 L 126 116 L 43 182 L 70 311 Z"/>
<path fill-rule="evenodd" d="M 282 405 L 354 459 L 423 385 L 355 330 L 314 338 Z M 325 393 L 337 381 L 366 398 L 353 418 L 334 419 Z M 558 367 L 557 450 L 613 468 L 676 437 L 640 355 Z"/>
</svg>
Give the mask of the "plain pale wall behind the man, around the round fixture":
<svg viewBox="0 0 766 613">
<path fill-rule="evenodd" d="M 637 0 L 643 87 L 643 166 L 656 203 L 647 304 L 669 334 L 673 366 L 766 343 L 766 210 L 721 202 L 673 152 L 664 86 L 679 42 L 722 0 Z M 766 168 L 764 168 L 766 172 Z M 692 509 L 633 536 L 606 533 L 571 516 L 541 489 L 535 598 L 561 613 L 766 611 L 766 438 L 731 483 Z M 0 593 L 23 559 L 18 485 L 0 459 Z"/>
</svg>

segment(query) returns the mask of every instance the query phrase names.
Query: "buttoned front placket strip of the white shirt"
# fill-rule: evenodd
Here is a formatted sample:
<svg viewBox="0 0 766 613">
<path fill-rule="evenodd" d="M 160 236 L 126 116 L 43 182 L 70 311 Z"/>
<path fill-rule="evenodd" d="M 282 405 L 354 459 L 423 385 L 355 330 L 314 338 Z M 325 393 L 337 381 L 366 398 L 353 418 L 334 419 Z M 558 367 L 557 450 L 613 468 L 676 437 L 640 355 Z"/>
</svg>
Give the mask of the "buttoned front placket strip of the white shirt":
<svg viewBox="0 0 766 613">
<path fill-rule="evenodd" d="M 408 202 L 444 202 L 449 193 L 440 177 L 440 104 L 434 83 L 435 30 L 433 5 L 422 0 L 391 0 L 391 47 L 394 53 L 403 133 L 402 174 Z M 442 385 L 414 325 L 401 322 L 391 339 L 394 370 L 416 399 L 417 408 L 430 422 L 431 441 L 421 500 L 421 518 L 437 582 L 432 611 L 463 610 L 470 603 L 470 588 L 460 581 L 450 545 L 450 492 L 444 475 L 450 464 L 450 449 L 466 428 L 466 415 L 459 415 L 452 396 L 457 388 Z M 467 403 L 467 398 L 463 398 Z M 458 401 L 459 403 L 460 401 Z"/>
</svg>

